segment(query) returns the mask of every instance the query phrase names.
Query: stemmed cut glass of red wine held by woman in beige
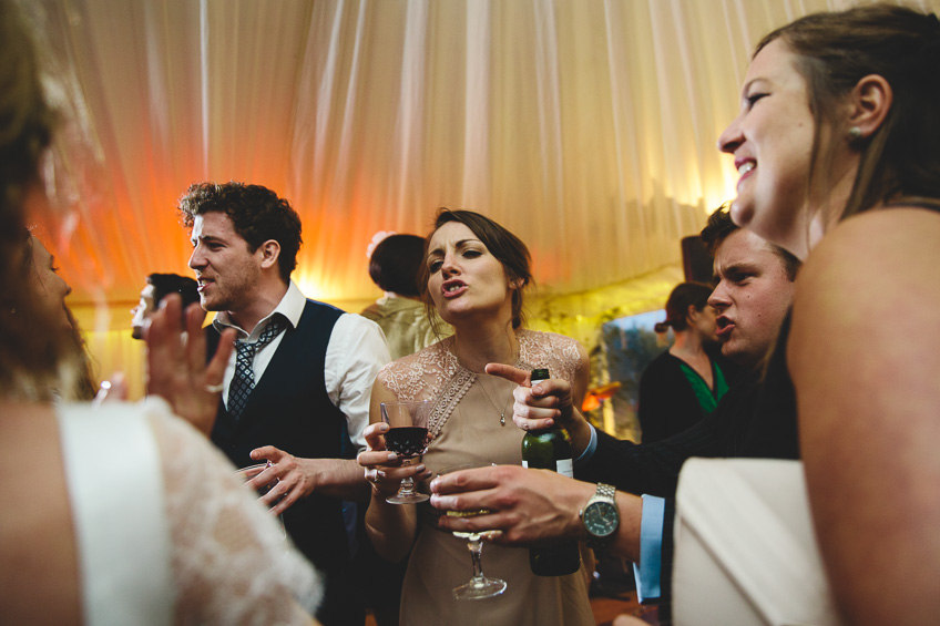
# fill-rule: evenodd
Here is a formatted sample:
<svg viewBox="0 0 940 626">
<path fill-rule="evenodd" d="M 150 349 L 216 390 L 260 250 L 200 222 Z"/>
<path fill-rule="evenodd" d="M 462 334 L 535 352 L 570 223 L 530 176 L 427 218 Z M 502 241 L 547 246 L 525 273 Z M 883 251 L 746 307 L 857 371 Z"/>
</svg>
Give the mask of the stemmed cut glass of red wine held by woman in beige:
<svg viewBox="0 0 940 626">
<path fill-rule="evenodd" d="M 385 433 L 385 447 L 402 459 L 402 465 L 409 465 L 411 459 L 420 456 L 428 449 L 428 417 L 431 414 L 429 400 L 415 402 L 382 402 L 382 421 L 388 424 Z M 398 493 L 386 499 L 392 504 L 415 504 L 425 502 L 429 496 L 415 492 L 415 480 L 401 479 Z"/>
</svg>

